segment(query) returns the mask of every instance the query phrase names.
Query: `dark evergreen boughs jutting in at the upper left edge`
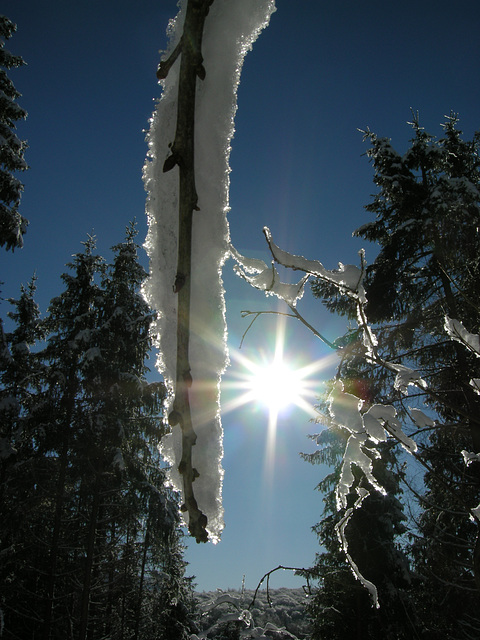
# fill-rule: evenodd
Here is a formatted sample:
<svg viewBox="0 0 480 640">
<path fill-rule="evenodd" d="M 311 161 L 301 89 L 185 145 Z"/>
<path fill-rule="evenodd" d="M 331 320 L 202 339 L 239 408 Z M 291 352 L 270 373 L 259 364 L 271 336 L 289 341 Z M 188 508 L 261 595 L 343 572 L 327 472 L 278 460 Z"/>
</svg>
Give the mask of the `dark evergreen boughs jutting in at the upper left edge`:
<svg viewBox="0 0 480 640">
<path fill-rule="evenodd" d="M 0 246 L 12 251 L 23 246 L 28 225 L 28 220 L 18 212 L 23 185 L 14 175 L 27 169 L 23 158 L 27 145 L 15 134 L 15 122 L 25 119 L 27 113 L 16 103 L 21 94 L 7 75 L 8 70 L 25 62 L 5 49 L 5 41 L 16 28 L 11 20 L 0 15 Z"/>
</svg>

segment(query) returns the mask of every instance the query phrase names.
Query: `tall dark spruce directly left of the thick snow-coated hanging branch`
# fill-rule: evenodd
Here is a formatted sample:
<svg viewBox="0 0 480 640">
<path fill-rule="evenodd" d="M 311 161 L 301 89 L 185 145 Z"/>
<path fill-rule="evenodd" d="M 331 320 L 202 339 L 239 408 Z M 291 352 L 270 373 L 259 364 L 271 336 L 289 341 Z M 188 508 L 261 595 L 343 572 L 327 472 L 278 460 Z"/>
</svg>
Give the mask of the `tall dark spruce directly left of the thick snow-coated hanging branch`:
<svg viewBox="0 0 480 640">
<path fill-rule="evenodd" d="M 178 611 L 187 611 L 189 592 L 181 558 L 178 505 L 164 486 L 158 454 L 164 434 L 159 414 L 165 388 L 145 378 L 154 314 L 139 291 L 146 273 L 138 262 L 135 235 L 132 224 L 125 241 L 113 247 L 113 264 L 102 281 L 96 351 L 85 362 L 85 368 L 94 371 L 88 378 L 92 386 L 86 387 L 88 404 L 96 408 L 96 427 L 87 438 L 89 459 L 96 460 L 99 474 L 92 495 L 98 491 L 106 496 L 102 498 L 101 514 L 104 532 L 96 526 L 97 547 L 115 537 L 122 550 L 121 561 L 112 562 L 109 568 L 111 588 L 103 596 L 98 592 L 105 576 L 101 567 L 92 564 L 90 589 L 96 594 L 95 612 L 92 615 L 90 610 L 85 617 L 84 602 L 80 638 L 87 626 L 91 633 L 93 618 L 97 617 L 97 626 L 101 625 L 108 609 L 117 611 L 120 636 L 128 631 L 134 638 L 166 639 L 170 637 L 167 627 L 173 621 L 176 632 L 172 638 L 187 637 L 188 631 L 186 619 L 182 627 L 178 616 Z M 97 446 L 92 456 L 94 443 Z M 90 518 L 93 516 L 92 510 Z M 98 548 L 93 555 L 102 557 Z M 163 571 L 159 571 L 161 566 Z M 122 583 L 121 589 L 115 587 L 116 583 Z M 170 597 L 159 606 L 157 600 L 166 589 Z"/>
</svg>

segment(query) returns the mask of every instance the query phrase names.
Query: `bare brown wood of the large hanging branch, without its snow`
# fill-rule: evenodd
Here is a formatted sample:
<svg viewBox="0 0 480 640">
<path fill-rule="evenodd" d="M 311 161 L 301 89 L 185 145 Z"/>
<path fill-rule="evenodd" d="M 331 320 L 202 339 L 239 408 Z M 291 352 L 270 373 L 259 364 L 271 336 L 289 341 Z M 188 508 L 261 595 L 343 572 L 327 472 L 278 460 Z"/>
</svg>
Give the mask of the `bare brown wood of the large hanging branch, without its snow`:
<svg viewBox="0 0 480 640">
<path fill-rule="evenodd" d="M 192 448 L 197 435 L 192 426 L 189 401 L 189 388 L 192 385 L 189 363 L 192 224 L 193 212 L 199 211 L 194 167 L 195 94 L 197 77 L 201 80 L 205 78 L 202 36 L 205 18 L 212 3 L 213 0 L 188 0 L 181 41 L 157 71 L 160 78 L 166 77 L 181 53 L 175 140 L 170 145 L 172 153 L 163 165 L 164 172 L 178 165 L 180 174 L 178 261 L 173 283 L 173 290 L 178 293 L 177 363 L 175 398 L 168 421 L 172 427 L 180 425 L 182 429 L 182 458 L 178 466 L 185 498 L 182 510 L 188 513 L 188 529 L 197 542 L 206 542 L 208 534 L 207 517 L 198 508 L 193 490 L 193 482 L 199 473 L 192 465 Z"/>
</svg>

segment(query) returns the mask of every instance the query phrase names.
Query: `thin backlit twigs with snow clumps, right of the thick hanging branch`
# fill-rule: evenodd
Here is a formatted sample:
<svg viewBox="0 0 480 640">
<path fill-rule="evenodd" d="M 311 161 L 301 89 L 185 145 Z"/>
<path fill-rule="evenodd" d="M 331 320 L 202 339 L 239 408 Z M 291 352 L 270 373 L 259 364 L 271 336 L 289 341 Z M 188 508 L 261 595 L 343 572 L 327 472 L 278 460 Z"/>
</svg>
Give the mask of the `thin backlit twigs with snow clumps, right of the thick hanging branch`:
<svg viewBox="0 0 480 640">
<path fill-rule="evenodd" d="M 360 252 L 360 267 L 339 263 L 338 269 L 331 271 L 326 269 L 318 260 L 309 260 L 280 249 L 273 241 L 269 229 L 265 228 L 264 234 L 273 257 L 272 265 L 267 266 L 261 260 L 241 256 L 235 249 L 231 248 L 231 255 L 237 261 L 234 269 L 240 277 L 249 282 L 253 287 L 264 291 L 267 295 L 274 294 L 280 299 L 283 299 L 292 311 L 292 314 L 289 315 L 296 315 L 300 317 L 300 319 L 301 316 L 297 310 L 297 302 L 303 295 L 304 286 L 308 277 L 313 276 L 334 285 L 341 294 L 348 296 L 356 305 L 357 324 L 362 335 L 363 345 L 363 351 L 359 353 L 363 353 L 365 361 L 390 371 L 395 376 L 393 388 L 402 395 L 408 396 L 409 388 L 413 387 L 420 389 L 423 393 L 438 400 L 435 392 L 429 389 L 426 381 L 418 371 L 403 364 L 387 361 L 379 354 L 377 338 L 368 322 L 366 313 L 367 299 L 363 287 L 363 278 L 365 275 L 365 257 L 363 251 Z M 294 285 L 282 283 L 274 263 L 294 271 L 303 271 L 305 276 Z M 258 317 L 258 315 L 256 317 Z M 311 327 L 310 329 L 315 335 L 323 339 L 316 330 Z M 453 340 L 461 342 L 475 355 L 480 356 L 480 338 L 478 335 L 469 333 L 461 322 L 450 320 L 449 318 L 445 320 L 445 329 Z M 334 343 L 326 342 L 330 346 L 335 346 Z M 348 351 L 346 349 L 339 347 L 337 347 L 337 349 L 340 353 L 345 351 L 347 354 L 346 357 L 348 357 Z M 477 379 L 472 380 L 471 385 L 474 388 L 480 388 Z M 420 409 L 411 407 L 408 408 L 408 410 L 413 422 L 419 428 L 434 425 L 434 421 L 426 416 Z M 418 460 L 418 454 L 416 453 L 417 445 L 415 441 L 403 431 L 395 407 L 381 404 L 373 404 L 367 407 L 363 400 L 347 393 L 340 380 L 337 380 L 334 384 L 327 398 L 327 412 L 330 424 L 337 425 L 349 433 L 343 455 L 340 479 L 336 487 L 337 508 L 344 510 L 344 516 L 337 525 L 337 534 L 354 575 L 370 591 L 375 605 L 378 606 L 375 585 L 364 578 L 348 552 L 345 529 L 353 512 L 361 507 L 364 500 L 370 494 L 365 486 L 357 485 L 355 489 L 358 494 L 357 499 L 352 506 L 348 507 L 347 498 L 351 494 L 353 487 L 357 484 L 357 478 L 353 469 L 356 468 L 357 471 L 361 472 L 364 478 L 363 482 L 370 485 L 374 490 L 385 494 L 385 489 L 376 479 L 373 470 L 373 461 L 380 456 L 376 445 L 380 442 L 386 442 L 388 438 L 393 438 Z M 464 456 L 467 463 L 477 460 L 474 454 L 468 452 L 464 452 Z M 471 513 L 475 519 L 478 519 L 480 516 L 480 505 L 476 509 L 472 509 Z"/>
</svg>

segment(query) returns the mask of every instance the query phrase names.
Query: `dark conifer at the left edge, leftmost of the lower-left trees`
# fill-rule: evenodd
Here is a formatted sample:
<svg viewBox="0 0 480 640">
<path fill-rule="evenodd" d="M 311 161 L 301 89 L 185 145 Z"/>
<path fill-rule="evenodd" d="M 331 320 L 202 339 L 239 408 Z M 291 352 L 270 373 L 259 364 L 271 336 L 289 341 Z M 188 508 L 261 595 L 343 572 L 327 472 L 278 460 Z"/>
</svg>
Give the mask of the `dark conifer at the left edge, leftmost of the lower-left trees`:
<svg viewBox="0 0 480 640">
<path fill-rule="evenodd" d="M 18 300 L 10 299 L 8 313 L 14 328 L 3 333 L 0 372 L 0 617 L 8 624 L 20 615 L 20 628 L 30 628 L 31 611 L 25 599 L 12 593 L 29 594 L 35 585 L 31 557 L 36 535 L 32 521 L 42 510 L 37 490 L 41 465 L 36 442 L 38 425 L 31 420 L 39 386 L 34 348 L 43 337 L 39 309 L 34 300 L 35 278 L 21 287 Z"/>
</svg>

